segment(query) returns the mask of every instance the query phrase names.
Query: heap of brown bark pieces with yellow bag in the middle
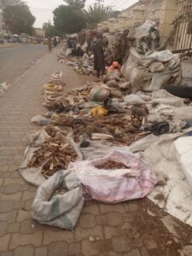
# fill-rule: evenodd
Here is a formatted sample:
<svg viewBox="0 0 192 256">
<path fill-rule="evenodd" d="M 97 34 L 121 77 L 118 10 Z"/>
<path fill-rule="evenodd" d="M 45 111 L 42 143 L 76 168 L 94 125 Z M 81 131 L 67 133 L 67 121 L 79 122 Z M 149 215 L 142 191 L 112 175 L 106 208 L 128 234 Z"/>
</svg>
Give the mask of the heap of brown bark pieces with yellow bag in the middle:
<svg viewBox="0 0 192 256">
<path fill-rule="evenodd" d="M 138 131 L 147 113 L 143 105 L 131 108 L 123 102 L 127 101 L 127 96 L 122 97 L 126 90 L 121 90 L 117 82 L 118 88 L 107 84 L 87 84 L 64 94 L 59 98 L 62 108 L 56 99 L 51 106 L 46 105 L 52 111 L 49 118 L 48 114 L 46 117 L 38 115 L 32 122 L 62 126 L 62 131 L 66 135 L 70 132 L 76 143 L 86 139 L 107 139 L 130 145 L 143 137 L 143 132 Z M 113 96 L 120 97 L 115 99 Z"/>
</svg>

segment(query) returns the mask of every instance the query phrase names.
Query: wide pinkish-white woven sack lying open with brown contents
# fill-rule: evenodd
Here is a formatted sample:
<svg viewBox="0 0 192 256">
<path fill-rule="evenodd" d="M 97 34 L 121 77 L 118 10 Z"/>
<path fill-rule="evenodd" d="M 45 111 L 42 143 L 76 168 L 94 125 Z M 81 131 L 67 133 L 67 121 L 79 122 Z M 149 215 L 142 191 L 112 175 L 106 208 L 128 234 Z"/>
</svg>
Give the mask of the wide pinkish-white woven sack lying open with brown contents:
<svg viewBox="0 0 192 256">
<path fill-rule="evenodd" d="M 96 167 L 108 161 L 122 163 L 127 168 L 105 170 Z M 113 151 L 95 160 L 71 163 L 70 168 L 79 177 L 87 197 L 105 203 L 143 198 L 154 189 L 156 183 L 156 176 L 150 166 L 127 149 Z"/>
</svg>

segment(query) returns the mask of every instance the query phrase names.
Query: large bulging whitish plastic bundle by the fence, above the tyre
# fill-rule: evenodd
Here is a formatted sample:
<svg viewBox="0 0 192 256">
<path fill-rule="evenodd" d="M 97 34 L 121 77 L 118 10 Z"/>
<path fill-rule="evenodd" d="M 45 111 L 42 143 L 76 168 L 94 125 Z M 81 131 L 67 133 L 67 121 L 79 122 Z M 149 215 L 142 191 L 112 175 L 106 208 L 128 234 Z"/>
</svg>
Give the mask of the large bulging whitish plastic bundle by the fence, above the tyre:
<svg viewBox="0 0 192 256">
<path fill-rule="evenodd" d="M 140 55 L 131 48 L 130 55 L 122 67 L 125 79 L 131 82 L 132 91 L 154 91 L 166 84 L 181 82 L 180 55 L 173 55 L 168 49 L 148 55 Z"/>
</svg>

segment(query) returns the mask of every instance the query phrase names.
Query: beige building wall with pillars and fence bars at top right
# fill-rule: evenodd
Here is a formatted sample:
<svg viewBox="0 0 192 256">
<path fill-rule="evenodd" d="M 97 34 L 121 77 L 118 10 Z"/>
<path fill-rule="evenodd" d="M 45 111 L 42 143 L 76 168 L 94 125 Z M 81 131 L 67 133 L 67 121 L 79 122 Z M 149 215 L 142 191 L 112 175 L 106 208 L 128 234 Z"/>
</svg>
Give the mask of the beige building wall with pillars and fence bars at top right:
<svg viewBox="0 0 192 256">
<path fill-rule="evenodd" d="M 144 20 L 154 20 L 159 26 L 160 43 L 163 44 L 174 28 L 174 20 L 180 15 L 185 17 L 178 24 L 172 46 L 175 49 L 192 47 L 192 35 L 188 33 L 189 24 L 192 26 L 192 0 L 140 0 L 116 20 L 108 20 L 107 24 L 109 32 L 116 32 Z"/>
</svg>

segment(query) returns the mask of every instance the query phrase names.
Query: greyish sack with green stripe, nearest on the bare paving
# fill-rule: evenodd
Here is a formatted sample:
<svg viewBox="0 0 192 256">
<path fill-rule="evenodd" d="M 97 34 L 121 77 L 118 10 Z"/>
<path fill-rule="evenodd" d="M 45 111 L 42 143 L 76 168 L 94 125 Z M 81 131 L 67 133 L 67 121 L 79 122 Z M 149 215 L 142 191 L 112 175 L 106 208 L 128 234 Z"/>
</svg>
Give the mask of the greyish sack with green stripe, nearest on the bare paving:
<svg viewBox="0 0 192 256">
<path fill-rule="evenodd" d="M 55 190 L 67 190 L 54 195 Z M 32 218 L 41 224 L 73 230 L 84 206 L 81 183 L 74 172 L 60 171 L 43 183 L 32 203 Z"/>
</svg>

